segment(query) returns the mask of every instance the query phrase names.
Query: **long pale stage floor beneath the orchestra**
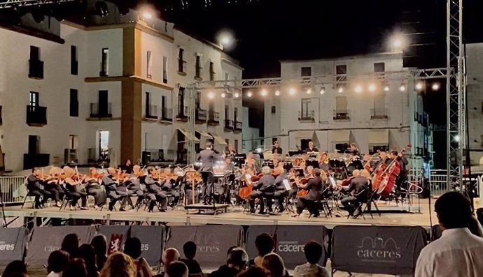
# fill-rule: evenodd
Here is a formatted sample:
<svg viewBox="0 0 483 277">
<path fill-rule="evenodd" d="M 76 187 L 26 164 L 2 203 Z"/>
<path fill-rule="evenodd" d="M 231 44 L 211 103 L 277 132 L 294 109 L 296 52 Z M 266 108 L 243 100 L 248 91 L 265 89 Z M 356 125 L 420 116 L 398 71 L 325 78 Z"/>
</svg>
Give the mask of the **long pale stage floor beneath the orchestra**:
<svg viewBox="0 0 483 277">
<path fill-rule="evenodd" d="M 432 203 L 433 206 L 433 203 Z M 398 225 L 398 226 L 413 226 L 419 225 L 421 227 L 430 227 L 428 202 L 421 203 L 418 212 L 417 206 L 413 205 L 412 213 L 402 212 L 388 212 L 387 210 L 400 210 L 394 204 L 388 205 L 385 202 L 379 202 L 378 207 L 386 212 L 379 216 L 375 211 L 374 218 L 370 214 L 365 214 L 365 220 L 362 217 L 356 219 L 347 218 L 346 211 L 336 211 L 332 217 L 325 218 L 323 213 L 319 218 L 309 218 L 307 212 L 304 212 L 299 217 L 293 218 L 287 212 L 277 214 L 274 216 L 256 216 L 253 214 L 246 214 L 241 207 L 229 207 L 228 212 L 220 214 L 186 214 L 183 207 L 178 209 L 168 209 L 167 212 L 148 213 L 147 211 L 96 211 L 94 209 L 85 211 L 70 211 L 64 209 L 59 211 L 57 207 L 48 207 L 44 209 L 31 209 L 30 204 L 27 204 L 24 209 L 20 207 L 6 207 L 5 215 L 8 218 L 13 217 L 38 217 L 38 218 L 63 218 L 63 219 L 90 219 L 90 220 L 106 220 L 106 224 L 110 221 L 141 221 L 145 223 L 163 223 L 167 225 L 324 225 L 331 229 L 336 225 Z M 339 214 L 340 217 L 336 217 Z M 436 215 L 433 212 L 433 224 L 437 224 Z"/>
</svg>

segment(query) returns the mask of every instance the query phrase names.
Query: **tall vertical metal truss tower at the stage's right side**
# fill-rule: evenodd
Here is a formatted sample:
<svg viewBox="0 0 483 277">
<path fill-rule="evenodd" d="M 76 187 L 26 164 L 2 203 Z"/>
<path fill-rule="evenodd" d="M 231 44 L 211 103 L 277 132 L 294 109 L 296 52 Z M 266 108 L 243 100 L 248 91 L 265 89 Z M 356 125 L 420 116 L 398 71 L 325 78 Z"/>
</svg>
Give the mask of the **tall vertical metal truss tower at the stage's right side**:
<svg viewBox="0 0 483 277">
<path fill-rule="evenodd" d="M 447 0 L 447 180 L 463 188 L 463 149 L 466 148 L 465 84 L 463 78 L 463 0 Z"/>
</svg>

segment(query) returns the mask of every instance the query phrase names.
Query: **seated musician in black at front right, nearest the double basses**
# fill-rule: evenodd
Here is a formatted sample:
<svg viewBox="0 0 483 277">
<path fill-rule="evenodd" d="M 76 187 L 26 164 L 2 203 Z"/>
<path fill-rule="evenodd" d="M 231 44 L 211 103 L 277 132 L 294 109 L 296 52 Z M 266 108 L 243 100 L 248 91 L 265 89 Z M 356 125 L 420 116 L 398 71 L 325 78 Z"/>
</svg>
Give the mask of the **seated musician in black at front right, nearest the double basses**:
<svg viewBox="0 0 483 277">
<path fill-rule="evenodd" d="M 363 170 L 367 172 L 367 170 Z M 367 176 L 368 172 L 364 175 Z M 354 170 L 352 172 L 353 179 L 347 187 L 343 187 L 344 190 L 351 193 L 350 196 L 345 197 L 341 200 L 342 206 L 349 212 L 349 216 L 354 218 L 362 214 L 362 209 L 360 208 L 360 203 L 365 202 L 370 198 L 371 189 L 370 183 L 367 177 L 361 174 L 360 170 Z M 356 211 L 356 207 L 358 207 Z"/>
</svg>

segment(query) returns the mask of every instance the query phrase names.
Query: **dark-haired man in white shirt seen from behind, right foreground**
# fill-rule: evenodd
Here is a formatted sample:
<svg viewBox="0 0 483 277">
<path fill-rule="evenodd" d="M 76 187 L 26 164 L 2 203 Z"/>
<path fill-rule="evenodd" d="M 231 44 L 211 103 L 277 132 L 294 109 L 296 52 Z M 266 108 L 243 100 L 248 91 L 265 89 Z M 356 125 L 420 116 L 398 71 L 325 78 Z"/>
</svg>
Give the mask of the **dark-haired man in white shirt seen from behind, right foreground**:
<svg viewBox="0 0 483 277">
<path fill-rule="evenodd" d="M 461 193 L 444 193 L 435 202 L 442 229 L 437 239 L 421 250 L 415 277 L 482 276 L 483 239 L 471 234 L 471 205 Z"/>
</svg>

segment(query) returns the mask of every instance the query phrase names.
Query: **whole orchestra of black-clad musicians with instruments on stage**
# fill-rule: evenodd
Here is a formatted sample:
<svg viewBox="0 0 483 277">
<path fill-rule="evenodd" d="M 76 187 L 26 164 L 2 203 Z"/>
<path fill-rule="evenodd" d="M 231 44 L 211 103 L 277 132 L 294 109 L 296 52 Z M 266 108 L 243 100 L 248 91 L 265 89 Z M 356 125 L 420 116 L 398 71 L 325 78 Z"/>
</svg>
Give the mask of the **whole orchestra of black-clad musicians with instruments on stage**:
<svg viewBox="0 0 483 277">
<path fill-rule="evenodd" d="M 43 208 L 48 200 L 61 209 L 63 203 L 71 210 L 89 209 L 92 197 L 94 209 L 107 205 L 109 211 L 117 202 L 119 211 L 145 204 L 148 212 L 155 207 L 165 212 L 168 207 L 218 203 L 239 205 L 246 207 L 244 211 L 259 214 L 276 209 L 300 216 L 307 209 L 314 217 L 320 215 L 317 202 L 329 197 L 342 204 L 349 216 L 357 217 L 362 213 L 360 204 L 373 195 L 391 200 L 407 194 L 405 149 L 361 156 L 356 144 L 350 144 L 345 150 L 319 153 L 309 142 L 306 151 L 284 156 L 276 141 L 269 159 L 248 152 L 244 162 L 236 165 L 233 159 L 237 151 L 230 146 L 227 150 L 219 154 L 207 142 L 198 154 L 199 163 L 183 168 L 146 168 L 132 165 L 130 160 L 118 169 L 90 167 L 87 174 L 69 166 L 52 167 L 43 174 L 42 168 L 34 167 L 26 184 L 34 196 L 35 209 Z"/>
</svg>

